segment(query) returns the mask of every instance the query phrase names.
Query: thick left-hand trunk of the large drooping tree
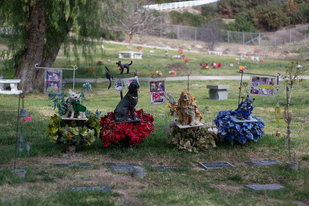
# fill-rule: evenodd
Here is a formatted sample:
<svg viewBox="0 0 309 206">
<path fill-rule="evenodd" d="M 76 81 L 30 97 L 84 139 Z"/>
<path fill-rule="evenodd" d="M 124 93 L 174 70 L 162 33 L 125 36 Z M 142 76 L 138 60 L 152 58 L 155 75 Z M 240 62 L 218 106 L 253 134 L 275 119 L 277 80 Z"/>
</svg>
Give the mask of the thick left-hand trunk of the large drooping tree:
<svg viewBox="0 0 309 206">
<path fill-rule="evenodd" d="M 44 69 L 36 69 L 35 64 L 41 66 L 43 59 L 43 45 L 45 37 L 45 17 L 43 0 L 29 6 L 29 18 L 26 23 L 28 31 L 27 48 L 21 54 L 22 62 L 15 65 L 15 78 L 20 79 L 18 88 L 23 92 L 31 89 L 43 90 Z"/>
</svg>

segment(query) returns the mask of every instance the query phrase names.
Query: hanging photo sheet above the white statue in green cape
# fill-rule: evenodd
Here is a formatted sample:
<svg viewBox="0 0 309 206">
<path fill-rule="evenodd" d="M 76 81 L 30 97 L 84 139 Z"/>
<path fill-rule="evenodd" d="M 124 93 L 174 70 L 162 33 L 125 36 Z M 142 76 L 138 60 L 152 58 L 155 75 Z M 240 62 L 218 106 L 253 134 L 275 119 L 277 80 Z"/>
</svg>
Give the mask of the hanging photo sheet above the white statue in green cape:
<svg viewBox="0 0 309 206">
<path fill-rule="evenodd" d="M 44 93 L 61 94 L 62 70 L 45 69 L 44 72 Z"/>
</svg>

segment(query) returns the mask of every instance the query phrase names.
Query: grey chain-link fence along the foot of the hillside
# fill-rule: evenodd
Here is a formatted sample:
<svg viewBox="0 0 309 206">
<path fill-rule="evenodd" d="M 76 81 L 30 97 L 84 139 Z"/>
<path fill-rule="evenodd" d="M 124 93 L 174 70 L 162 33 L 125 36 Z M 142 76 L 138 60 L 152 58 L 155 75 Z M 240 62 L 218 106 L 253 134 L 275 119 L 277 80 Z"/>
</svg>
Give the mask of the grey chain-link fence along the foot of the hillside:
<svg viewBox="0 0 309 206">
<path fill-rule="evenodd" d="M 306 30 L 308 28 L 309 24 L 288 30 L 263 33 L 221 30 L 218 35 L 220 35 L 219 42 L 222 43 L 243 45 L 277 45 L 306 40 L 306 35 L 303 35 L 299 31 Z M 211 29 L 201 27 L 162 24 L 161 29 L 155 33 L 155 36 L 178 40 L 203 41 L 203 37 L 207 35 L 207 33 L 212 35 L 212 32 L 213 31 Z"/>
</svg>

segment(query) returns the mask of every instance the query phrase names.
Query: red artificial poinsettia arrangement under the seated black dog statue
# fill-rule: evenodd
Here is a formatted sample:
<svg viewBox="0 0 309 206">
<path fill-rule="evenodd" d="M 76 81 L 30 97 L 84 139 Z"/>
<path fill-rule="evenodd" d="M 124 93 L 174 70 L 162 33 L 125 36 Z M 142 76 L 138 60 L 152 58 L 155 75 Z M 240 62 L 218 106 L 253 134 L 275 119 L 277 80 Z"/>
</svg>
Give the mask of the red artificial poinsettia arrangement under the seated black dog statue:
<svg viewBox="0 0 309 206">
<path fill-rule="evenodd" d="M 134 145 L 140 143 L 145 139 L 150 132 L 154 131 L 154 118 L 152 115 L 145 113 L 142 109 L 134 109 L 136 117 L 142 121 L 139 122 L 125 122 L 116 124 L 114 112 L 108 112 L 107 115 L 101 117 L 101 132 L 100 138 L 105 147 L 109 143 L 114 142 L 120 145 Z M 130 111 L 128 111 L 130 115 Z"/>
</svg>

